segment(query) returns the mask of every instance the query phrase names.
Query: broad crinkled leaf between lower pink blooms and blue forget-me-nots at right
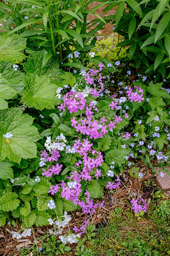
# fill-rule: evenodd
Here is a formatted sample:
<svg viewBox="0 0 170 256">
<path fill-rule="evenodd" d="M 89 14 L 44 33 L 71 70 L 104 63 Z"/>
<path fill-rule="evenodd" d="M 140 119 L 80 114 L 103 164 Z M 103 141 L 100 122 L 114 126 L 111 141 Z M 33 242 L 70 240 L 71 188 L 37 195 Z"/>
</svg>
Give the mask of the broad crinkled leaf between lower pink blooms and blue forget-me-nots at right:
<svg viewBox="0 0 170 256">
<path fill-rule="evenodd" d="M 129 156 L 129 150 L 124 148 L 114 148 L 112 150 L 107 151 L 105 155 L 105 160 L 108 164 L 112 161 L 115 161 L 115 164 L 118 166 L 122 166 L 125 163 L 124 156 Z"/>
</svg>

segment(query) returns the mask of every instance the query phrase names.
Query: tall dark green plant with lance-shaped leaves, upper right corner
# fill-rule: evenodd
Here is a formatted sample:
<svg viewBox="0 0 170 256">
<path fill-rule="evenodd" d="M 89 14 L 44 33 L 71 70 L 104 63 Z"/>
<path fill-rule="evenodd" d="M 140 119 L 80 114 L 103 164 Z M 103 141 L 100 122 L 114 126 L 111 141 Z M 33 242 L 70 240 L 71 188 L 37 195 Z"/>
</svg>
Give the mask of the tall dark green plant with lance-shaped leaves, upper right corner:
<svg viewBox="0 0 170 256">
<path fill-rule="evenodd" d="M 127 8 L 125 8 L 125 4 Z M 168 0 L 115 0 L 104 12 L 117 6 L 115 31 L 124 36 L 117 46 L 129 47 L 129 60 L 146 73 L 170 77 L 170 5 Z"/>
</svg>

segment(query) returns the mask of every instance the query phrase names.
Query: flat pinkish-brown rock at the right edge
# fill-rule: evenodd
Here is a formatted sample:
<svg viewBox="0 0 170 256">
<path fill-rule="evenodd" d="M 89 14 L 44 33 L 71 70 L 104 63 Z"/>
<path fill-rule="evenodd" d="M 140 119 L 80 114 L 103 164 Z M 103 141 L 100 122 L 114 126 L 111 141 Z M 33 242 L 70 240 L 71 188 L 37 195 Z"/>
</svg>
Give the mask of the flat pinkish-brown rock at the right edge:
<svg viewBox="0 0 170 256">
<path fill-rule="evenodd" d="M 168 171 L 170 172 L 170 166 L 166 166 L 166 168 L 168 169 Z M 168 173 L 166 173 L 163 168 L 155 168 L 156 174 L 157 174 L 157 181 L 160 184 L 160 186 L 162 187 L 162 189 L 164 190 L 168 190 L 170 189 L 170 175 Z M 160 174 L 158 174 L 158 172 L 161 171 L 164 173 L 164 177 L 161 178 Z"/>
</svg>

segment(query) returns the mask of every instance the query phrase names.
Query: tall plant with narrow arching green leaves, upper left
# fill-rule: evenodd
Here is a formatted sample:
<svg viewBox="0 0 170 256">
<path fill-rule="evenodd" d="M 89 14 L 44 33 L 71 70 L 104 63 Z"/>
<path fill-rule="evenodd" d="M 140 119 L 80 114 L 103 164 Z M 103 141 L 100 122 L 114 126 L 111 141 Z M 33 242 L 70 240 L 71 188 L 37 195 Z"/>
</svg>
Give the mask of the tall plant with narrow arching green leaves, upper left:
<svg viewBox="0 0 170 256">
<path fill-rule="evenodd" d="M 28 38 L 31 47 L 51 46 L 59 62 L 63 62 L 70 52 L 89 51 L 95 40 L 87 45 L 96 31 L 107 24 L 108 18 L 101 18 L 95 11 L 108 4 L 106 1 L 88 10 L 88 5 L 96 0 L 9 0 L 1 2 L 0 11 L 5 14 L 6 27 L 11 23 L 15 28 L 11 34 L 18 33 Z M 94 19 L 87 23 L 87 15 Z M 97 27 L 93 27 L 98 23 Z M 71 47 L 71 48 L 70 48 Z M 83 55 L 84 56 L 84 55 Z"/>
</svg>

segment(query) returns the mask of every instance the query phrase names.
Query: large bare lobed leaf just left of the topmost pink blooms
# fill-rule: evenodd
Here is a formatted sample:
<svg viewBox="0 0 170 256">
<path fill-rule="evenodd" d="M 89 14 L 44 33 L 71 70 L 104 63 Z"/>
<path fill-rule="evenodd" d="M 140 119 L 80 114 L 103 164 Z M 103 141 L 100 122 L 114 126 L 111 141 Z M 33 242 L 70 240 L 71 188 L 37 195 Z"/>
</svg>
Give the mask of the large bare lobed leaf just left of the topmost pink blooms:
<svg viewBox="0 0 170 256">
<path fill-rule="evenodd" d="M 47 76 L 30 74 L 23 77 L 26 87 L 22 91 L 22 100 L 29 108 L 44 109 L 55 108 L 59 103 L 56 97 L 57 85 L 51 84 Z M 48 88 L 48 90 L 47 90 Z"/>
</svg>

